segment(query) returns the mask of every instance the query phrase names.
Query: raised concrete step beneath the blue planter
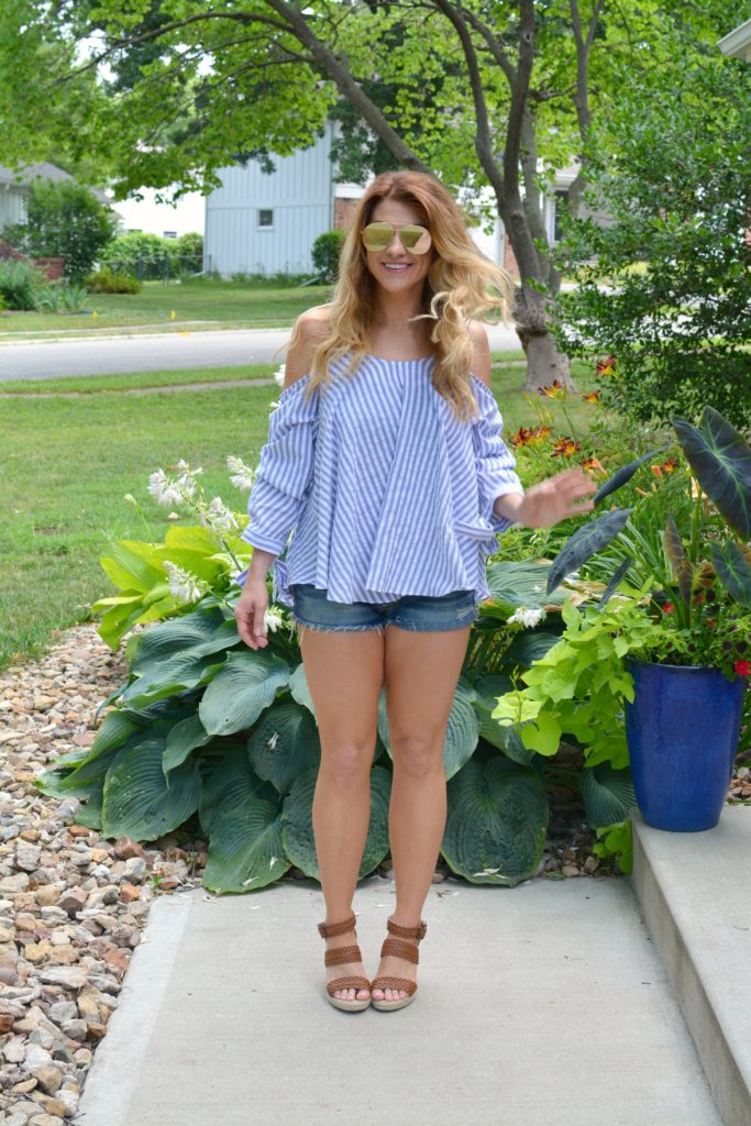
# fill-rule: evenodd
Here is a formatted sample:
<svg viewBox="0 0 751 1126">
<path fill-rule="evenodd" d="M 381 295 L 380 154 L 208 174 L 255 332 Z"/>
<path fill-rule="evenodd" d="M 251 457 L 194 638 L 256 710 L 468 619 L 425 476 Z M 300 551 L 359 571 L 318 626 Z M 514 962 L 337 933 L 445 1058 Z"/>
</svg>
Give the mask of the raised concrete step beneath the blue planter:
<svg viewBox="0 0 751 1126">
<path fill-rule="evenodd" d="M 751 808 L 698 833 L 632 822 L 643 920 L 726 1126 L 751 1126 Z"/>
</svg>

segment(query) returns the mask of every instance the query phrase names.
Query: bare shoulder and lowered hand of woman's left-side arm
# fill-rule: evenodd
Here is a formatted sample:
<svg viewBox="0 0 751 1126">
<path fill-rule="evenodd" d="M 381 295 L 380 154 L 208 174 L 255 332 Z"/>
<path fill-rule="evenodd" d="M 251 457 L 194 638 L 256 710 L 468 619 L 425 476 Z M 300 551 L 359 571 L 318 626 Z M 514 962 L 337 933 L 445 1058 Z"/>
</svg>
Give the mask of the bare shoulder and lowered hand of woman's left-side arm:
<svg viewBox="0 0 751 1126">
<path fill-rule="evenodd" d="M 322 315 L 325 309 L 327 306 L 310 309 L 297 319 L 285 361 L 285 391 L 311 369 L 313 352 L 327 330 L 328 318 Z M 268 644 L 265 625 L 268 607 L 266 577 L 281 551 L 284 547 L 271 552 L 253 546 L 248 575 L 234 608 L 238 633 L 250 649 L 263 649 Z"/>
</svg>

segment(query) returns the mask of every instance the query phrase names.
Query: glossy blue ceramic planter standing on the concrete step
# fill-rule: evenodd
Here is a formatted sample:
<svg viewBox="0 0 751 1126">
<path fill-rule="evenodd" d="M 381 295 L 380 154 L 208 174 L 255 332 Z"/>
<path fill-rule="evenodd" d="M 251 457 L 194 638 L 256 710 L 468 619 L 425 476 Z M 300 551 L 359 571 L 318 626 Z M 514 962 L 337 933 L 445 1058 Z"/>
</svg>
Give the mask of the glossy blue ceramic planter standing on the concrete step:
<svg viewBox="0 0 751 1126">
<path fill-rule="evenodd" d="M 719 821 L 737 750 L 745 677 L 718 669 L 627 661 L 635 699 L 626 740 L 644 821 L 700 832 Z"/>
</svg>

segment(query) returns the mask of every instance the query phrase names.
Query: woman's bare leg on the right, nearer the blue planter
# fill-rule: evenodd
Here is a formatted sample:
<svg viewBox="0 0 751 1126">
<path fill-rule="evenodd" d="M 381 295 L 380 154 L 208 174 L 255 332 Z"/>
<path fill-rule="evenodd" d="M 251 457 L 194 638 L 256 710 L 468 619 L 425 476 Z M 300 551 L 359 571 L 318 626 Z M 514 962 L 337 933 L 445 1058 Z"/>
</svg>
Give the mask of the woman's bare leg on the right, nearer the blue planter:
<svg viewBox="0 0 751 1126">
<path fill-rule="evenodd" d="M 446 828 L 444 740 L 470 631 L 471 626 L 437 633 L 386 629 L 386 706 L 394 762 L 388 813 L 396 883 L 392 918 L 403 927 L 414 927 L 422 918 Z M 417 966 L 386 955 L 378 974 L 414 981 Z M 403 997 L 404 990 L 373 991 L 376 1001 Z"/>
</svg>

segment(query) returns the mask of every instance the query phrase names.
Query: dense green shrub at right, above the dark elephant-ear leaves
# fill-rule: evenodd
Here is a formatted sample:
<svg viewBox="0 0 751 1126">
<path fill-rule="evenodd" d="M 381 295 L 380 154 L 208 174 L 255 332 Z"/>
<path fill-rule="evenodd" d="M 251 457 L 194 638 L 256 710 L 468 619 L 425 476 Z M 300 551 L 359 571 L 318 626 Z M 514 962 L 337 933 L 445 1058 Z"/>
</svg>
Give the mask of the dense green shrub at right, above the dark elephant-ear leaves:
<svg viewBox="0 0 751 1126">
<path fill-rule="evenodd" d="M 608 120 L 617 159 L 588 142 L 585 198 L 611 225 L 563 220 L 557 265 L 578 286 L 558 298 L 560 346 L 613 354 L 604 401 L 642 421 L 751 414 L 748 82 L 723 63 L 688 70 L 670 102 L 624 93 Z"/>
</svg>

